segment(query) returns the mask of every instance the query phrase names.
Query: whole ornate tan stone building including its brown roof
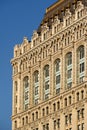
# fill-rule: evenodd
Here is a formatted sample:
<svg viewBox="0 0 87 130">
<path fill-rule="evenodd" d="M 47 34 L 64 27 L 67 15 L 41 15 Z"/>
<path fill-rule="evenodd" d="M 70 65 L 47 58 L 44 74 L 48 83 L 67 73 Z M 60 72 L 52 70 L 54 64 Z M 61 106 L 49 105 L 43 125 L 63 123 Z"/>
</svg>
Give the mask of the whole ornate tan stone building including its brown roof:
<svg viewBox="0 0 87 130">
<path fill-rule="evenodd" d="M 14 47 L 12 130 L 87 130 L 87 1 L 46 9 Z"/>
</svg>

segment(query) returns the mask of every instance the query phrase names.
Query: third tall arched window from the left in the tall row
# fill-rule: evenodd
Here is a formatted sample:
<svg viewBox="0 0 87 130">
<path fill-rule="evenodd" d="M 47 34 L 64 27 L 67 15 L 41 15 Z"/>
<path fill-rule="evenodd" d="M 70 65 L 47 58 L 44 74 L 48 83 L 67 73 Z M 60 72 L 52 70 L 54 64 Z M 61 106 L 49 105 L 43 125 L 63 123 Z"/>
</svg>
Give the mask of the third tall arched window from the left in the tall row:
<svg viewBox="0 0 87 130">
<path fill-rule="evenodd" d="M 44 67 L 44 100 L 48 99 L 49 98 L 49 80 L 50 80 L 50 77 L 49 77 L 49 65 L 46 65 Z"/>
</svg>

